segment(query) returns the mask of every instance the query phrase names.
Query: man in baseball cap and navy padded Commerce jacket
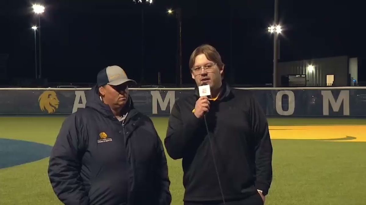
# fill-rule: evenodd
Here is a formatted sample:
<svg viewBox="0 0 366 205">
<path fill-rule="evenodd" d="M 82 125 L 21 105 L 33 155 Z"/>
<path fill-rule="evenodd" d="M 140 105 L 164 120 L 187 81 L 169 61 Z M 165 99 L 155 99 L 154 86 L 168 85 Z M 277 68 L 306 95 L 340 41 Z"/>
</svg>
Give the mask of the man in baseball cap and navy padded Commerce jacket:
<svg viewBox="0 0 366 205">
<path fill-rule="evenodd" d="M 48 175 L 64 204 L 171 203 L 162 142 L 128 94 L 135 84 L 119 66 L 102 69 L 86 108 L 62 124 Z"/>
</svg>

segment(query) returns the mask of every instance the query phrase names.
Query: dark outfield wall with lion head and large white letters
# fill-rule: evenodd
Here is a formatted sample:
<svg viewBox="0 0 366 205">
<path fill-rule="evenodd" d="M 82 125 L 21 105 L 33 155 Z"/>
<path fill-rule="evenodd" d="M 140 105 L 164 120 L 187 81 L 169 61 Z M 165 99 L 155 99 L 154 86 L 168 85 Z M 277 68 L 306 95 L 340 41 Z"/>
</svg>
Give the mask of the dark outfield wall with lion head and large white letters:
<svg viewBox="0 0 366 205">
<path fill-rule="evenodd" d="M 237 88 L 251 90 L 267 116 L 366 116 L 366 87 Z M 0 88 L 0 114 L 71 114 L 85 107 L 90 88 Z M 169 115 L 193 88 L 130 88 L 146 115 Z"/>
</svg>

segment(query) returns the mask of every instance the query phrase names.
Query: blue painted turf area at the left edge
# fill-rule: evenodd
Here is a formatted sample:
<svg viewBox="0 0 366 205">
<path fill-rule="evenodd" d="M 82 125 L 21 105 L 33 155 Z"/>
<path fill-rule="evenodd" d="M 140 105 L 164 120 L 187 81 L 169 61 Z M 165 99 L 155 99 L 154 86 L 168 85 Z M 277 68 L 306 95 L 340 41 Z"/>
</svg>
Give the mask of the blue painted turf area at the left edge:
<svg viewBox="0 0 366 205">
<path fill-rule="evenodd" d="M 49 157 L 52 146 L 23 140 L 0 139 L 0 169 Z"/>
</svg>

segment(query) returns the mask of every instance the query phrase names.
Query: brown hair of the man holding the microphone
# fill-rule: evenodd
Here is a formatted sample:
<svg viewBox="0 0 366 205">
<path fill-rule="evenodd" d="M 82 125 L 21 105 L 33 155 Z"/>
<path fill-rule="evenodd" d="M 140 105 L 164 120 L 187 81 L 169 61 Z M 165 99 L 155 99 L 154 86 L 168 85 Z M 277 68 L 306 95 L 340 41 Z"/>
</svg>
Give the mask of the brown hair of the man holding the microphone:
<svg viewBox="0 0 366 205">
<path fill-rule="evenodd" d="M 224 63 L 221 61 L 221 56 L 217 50 L 208 44 L 203 44 L 201 46 L 198 46 L 191 54 L 191 57 L 189 58 L 189 69 L 192 71 L 193 65 L 195 63 L 195 59 L 197 55 L 199 54 L 205 54 L 206 58 L 209 61 L 213 61 L 214 63 L 219 66 L 219 68 L 222 68 L 224 66 Z"/>
</svg>

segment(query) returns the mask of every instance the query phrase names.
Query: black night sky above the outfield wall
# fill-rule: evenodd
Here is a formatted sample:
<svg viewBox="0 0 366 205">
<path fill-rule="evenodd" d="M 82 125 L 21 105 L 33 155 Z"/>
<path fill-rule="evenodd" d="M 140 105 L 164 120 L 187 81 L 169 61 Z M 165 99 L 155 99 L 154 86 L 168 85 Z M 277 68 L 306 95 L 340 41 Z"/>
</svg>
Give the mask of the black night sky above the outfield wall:
<svg viewBox="0 0 366 205">
<path fill-rule="evenodd" d="M 119 65 L 144 84 L 176 82 L 177 20 L 167 9 L 182 8 L 183 83 L 192 84 L 188 59 L 195 47 L 216 47 L 231 84 L 272 83 L 274 0 L 38 1 L 41 16 L 42 77 L 49 82 L 94 83 L 97 72 Z M 8 79 L 35 78 L 34 1 L 0 1 L 0 54 L 8 54 Z M 361 1 L 279 0 L 280 60 L 348 55 L 359 58 L 366 81 L 365 12 Z M 142 41 L 143 39 L 143 41 Z M 142 58 L 142 42 L 144 56 Z M 143 61 L 142 61 L 143 59 Z"/>
</svg>

